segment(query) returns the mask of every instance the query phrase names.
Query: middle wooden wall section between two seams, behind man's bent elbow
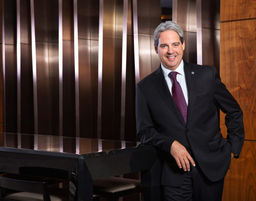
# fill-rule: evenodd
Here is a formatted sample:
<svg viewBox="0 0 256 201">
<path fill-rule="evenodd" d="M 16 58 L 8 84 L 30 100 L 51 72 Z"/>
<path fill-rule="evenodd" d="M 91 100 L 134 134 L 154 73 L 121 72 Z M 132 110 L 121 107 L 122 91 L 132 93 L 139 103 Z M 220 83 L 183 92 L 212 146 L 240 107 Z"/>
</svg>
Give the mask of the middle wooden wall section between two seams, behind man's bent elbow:
<svg viewBox="0 0 256 201">
<path fill-rule="evenodd" d="M 256 140 L 256 19 L 221 23 L 220 76 L 244 112 L 245 139 Z M 220 125 L 226 133 L 224 114 Z"/>
</svg>

